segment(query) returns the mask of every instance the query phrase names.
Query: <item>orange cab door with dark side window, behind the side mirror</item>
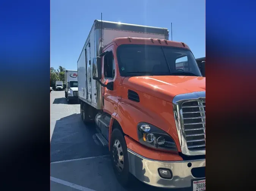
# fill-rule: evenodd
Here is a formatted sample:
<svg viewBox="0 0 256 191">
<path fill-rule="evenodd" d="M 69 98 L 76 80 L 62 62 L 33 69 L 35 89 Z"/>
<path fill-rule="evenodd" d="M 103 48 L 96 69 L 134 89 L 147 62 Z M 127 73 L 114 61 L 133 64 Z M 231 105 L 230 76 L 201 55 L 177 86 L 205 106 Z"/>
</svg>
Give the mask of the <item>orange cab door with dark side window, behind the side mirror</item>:
<svg viewBox="0 0 256 191">
<path fill-rule="evenodd" d="M 104 55 L 103 59 L 103 83 L 107 84 L 109 82 L 115 83 L 116 72 L 115 72 L 115 60 L 113 56 L 113 51 L 109 50 L 109 52 Z M 109 114 L 113 114 L 115 112 L 115 92 L 116 89 L 109 90 L 105 87 L 102 87 L 102 101 L 103 101 L 103 110 Z"/>
</svg>

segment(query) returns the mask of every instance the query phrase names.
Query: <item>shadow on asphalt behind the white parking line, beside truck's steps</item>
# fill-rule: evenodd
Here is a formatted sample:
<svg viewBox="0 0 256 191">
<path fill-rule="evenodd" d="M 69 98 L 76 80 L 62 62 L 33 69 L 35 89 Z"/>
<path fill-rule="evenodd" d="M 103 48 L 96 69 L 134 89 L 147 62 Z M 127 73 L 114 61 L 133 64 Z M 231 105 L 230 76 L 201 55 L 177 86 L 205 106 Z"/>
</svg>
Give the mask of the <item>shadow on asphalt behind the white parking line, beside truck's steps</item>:
<svg viewBox="0 0 256 191">
<path fill-rule="evenodd" d="M 64 99 L 64 98 L 63 98 Z M 108 149 L 96 144 L 94 124 L 85 125 L 80 113 L 56 121 L 50 143 L 50 161 L 79 159 L 108 154 Z"/>
</svg>

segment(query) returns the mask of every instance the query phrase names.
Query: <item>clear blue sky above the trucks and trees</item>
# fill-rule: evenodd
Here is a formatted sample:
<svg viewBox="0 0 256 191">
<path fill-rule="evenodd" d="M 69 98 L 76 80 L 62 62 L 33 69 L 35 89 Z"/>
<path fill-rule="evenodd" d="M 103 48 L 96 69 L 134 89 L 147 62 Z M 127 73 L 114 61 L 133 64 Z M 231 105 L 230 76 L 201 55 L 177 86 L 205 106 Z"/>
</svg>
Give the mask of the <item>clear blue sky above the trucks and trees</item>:
<svg viewBox="0 0 256 191">
<path fill-rule="evenodd" d="M 195 58 L 205 56 L 205 0 L 51 0 L 50 67 L 77 69 L 95 19 L 169 29 Z"/>
</svg>

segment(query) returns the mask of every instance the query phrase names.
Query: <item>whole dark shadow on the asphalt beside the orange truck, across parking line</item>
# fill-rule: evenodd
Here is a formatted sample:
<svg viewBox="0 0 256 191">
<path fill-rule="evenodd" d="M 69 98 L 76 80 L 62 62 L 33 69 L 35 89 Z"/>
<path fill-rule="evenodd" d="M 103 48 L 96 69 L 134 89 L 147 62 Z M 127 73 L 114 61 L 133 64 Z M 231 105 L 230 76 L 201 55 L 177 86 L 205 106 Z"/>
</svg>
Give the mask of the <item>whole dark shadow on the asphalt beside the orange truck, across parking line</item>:
<svg viewBox="0 0 256 191">
<path fill-rule="evenodd" d="M 64 98 L 63 98 L 64 99 Z M 50 143 L 50 162 L 108 155 L 108 148 L 96 144 L 94 124 L 85 125 L 80 113 L 56 121 Z M 143 166 L 141 166 L 143 170 Z M 187 191 L 190 189 L 162 189 L 146 185 L 133 177 L 131 188 L 123 188 L 113 172 L 110 156 L 51 164 L 51 175 L 61 180 L 96 191 Z M 54 188 L 60 190 L 60 187 Z M 68 190 L 68 189 L 67 189 Z"/>
</svg>

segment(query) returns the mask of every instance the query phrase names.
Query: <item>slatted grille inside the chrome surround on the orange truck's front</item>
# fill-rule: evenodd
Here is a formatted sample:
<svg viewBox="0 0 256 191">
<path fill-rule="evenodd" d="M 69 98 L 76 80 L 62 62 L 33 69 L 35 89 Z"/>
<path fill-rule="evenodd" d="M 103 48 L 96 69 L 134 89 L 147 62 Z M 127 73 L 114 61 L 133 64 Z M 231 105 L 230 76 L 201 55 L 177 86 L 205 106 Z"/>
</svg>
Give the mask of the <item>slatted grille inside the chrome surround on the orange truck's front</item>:
<svg viewBox="0 0 256 191">
<path fill-rule="evenodd" d="M 182 103 L 185 139 L 187 141 L 187 148 L 190 151 L 205 149 L 205 119 L 205 102 L 194 100 Z"/>
</svg>

